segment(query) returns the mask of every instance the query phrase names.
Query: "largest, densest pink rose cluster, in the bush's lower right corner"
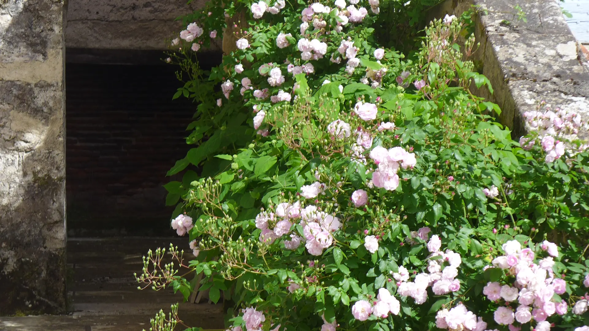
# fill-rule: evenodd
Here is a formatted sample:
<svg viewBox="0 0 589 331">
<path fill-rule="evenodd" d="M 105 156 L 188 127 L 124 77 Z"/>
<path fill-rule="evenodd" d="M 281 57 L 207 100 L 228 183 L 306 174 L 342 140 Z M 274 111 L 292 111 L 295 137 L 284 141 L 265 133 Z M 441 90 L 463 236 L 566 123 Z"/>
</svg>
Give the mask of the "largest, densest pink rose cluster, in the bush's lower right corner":
<svg viewBox="0 0 589 331">
<path fill-rule="evenodd" d="M 492 261 L 493 266 L 504 270 L 508 277 L 505 282 L 489 282 L 483 288 L 489 300 L 500 304 L 494 313 L 499 325 L 517 329 L 518 324 L 535 321 L 536 329 L 550 330 L 550 323 L 544 323 L 545 320 L 555 313 L 567 313 L 567 302 L 554 299 L 555 293 L 565 293 L 567 285 L 552 271 L 558 247 L 550 241 L 539 246 L 547 251 L 548 257 L 541 259 L 532 249 L 522 248 L 519 241 L 510 240 L 502 246 L 505 254 Z M 513 304 L 519 304 L 515 311 L 511 308 Z"/>
</svg>

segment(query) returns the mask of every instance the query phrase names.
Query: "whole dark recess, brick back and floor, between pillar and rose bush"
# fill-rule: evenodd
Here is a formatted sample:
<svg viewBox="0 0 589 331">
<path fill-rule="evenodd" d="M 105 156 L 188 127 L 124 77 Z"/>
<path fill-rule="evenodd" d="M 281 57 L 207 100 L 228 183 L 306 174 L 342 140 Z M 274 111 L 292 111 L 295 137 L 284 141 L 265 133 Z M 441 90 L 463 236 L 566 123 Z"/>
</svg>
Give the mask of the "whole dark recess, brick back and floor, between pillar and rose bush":
<svg viewBox="0 0 589 331">
<path fill-rule="evenodd" d="M 188 238 L 170 228 L 174 207 L 166 207 L 163 184 L 175 179 L 166 177 L 167 171 L 193 147 L 185 137 L 197 105 L 172 100 L 182 83 L 176 79 L 178 67 L 165 64 L 163 56 L 161 51 L 66 50 L 71 315 L 51 322 L 61 323 L 61 330 L 147 329 L 158 310 L 182 301 L 173 289 L 137 290 L 133 276 L 141 274 L 141 256 L 148 249 L 173 243 L 191 251 Z M 221 57 L 203 54 L 203 59 L 201 67 L 210 68 Z M 223 327 L 222 304 L 186 302 L 178 310 L 191 325 Z"/>
</svg>

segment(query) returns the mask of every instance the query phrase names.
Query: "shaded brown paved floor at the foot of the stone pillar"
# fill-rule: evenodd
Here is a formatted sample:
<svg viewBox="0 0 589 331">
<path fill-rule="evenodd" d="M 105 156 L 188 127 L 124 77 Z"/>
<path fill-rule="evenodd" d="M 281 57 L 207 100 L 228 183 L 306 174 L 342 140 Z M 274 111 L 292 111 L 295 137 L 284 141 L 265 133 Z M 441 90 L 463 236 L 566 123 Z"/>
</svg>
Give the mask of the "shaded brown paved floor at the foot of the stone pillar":
<svg viewBox="0 0 589 331">
<path fill-rule="evenodd" d="M 181 302 L 170 290 L 137 290 L 133 273 L 143 268 L 148 249 L 170 242 L 190 254 L 186 238 L 111 238 L 68 240 L 70 315 L 0 317 L 2 331 L 141 331 L 160 309 Z M 190 326 L 223 329 L 221 304 L 181 303 L 178 315 Z M 183 329 L 177 327 L 178 330 Z"/>
</svg>

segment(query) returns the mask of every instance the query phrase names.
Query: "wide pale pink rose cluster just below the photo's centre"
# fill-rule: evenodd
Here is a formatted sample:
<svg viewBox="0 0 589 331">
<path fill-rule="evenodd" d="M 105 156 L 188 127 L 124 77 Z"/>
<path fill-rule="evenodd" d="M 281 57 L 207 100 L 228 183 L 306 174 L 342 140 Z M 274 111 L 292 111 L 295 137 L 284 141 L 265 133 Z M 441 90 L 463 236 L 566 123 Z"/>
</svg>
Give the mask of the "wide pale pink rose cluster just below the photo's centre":
<svg viewBox="0 0 589 331">
<path fill-rule="evenodd" d="M 299 221 L 303 228 L 303 237 L 291 231 L 293 224 Z M 273 229 L 270 227 L 273 226 Z M 342 227 L 339 218 L 320 211 L 316 206 L 303 208 L 299 201 L 284 202 L 276 206 L 274 212 L 262 211 L 256 216 L 256 227 L 262 230 L 260 241 L 268 244 L 284 235 L 290 240 L 284 240 L 284 247 L 289 250 L 297 249 L 301 243 L 309 254 L 319 256 L 333 244 L 333 232 Z"/>
</svg>

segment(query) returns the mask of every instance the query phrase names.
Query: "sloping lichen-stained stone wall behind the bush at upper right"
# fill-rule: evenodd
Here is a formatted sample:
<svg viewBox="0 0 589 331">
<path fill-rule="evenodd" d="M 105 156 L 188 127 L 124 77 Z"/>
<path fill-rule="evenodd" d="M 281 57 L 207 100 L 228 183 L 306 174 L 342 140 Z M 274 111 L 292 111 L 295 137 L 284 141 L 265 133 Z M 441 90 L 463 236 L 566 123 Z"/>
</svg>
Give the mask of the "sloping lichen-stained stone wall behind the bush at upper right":
<svg viewBox="0 0 589 331">
<path fill-rule="evenodd" d="M 475 37 L 481 47 L 474 55 L 479 72 L 494 88 L 476 89 L 478 95 L 501 107 L 501 123 L 524 134 L 522 115 L 535 110 L 540 101 L 589 120 L 589 64 L 573 37 L 555 0 L 524 2 L 527 22 L 518 21 L 515 3 L 508 0 L 448 0 L 435 12 L 461 14 L 471 5 L 487 9 L 475 18 Z M 589 132 L 578 135 L 589 140 Z"/>
</svg>

